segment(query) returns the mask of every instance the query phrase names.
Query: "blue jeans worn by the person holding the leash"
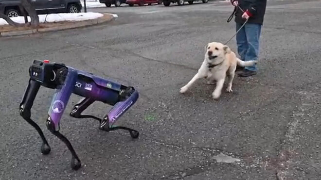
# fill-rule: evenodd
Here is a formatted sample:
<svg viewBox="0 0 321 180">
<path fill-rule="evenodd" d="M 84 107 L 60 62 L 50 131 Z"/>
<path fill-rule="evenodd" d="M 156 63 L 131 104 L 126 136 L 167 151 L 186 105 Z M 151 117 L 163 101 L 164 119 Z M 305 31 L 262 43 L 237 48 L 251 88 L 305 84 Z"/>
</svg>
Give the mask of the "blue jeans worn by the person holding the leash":
<svg viewBox="0 0 321 180">
<path fill-rule="evenodd" d="M 242 23 L 236 23 L 236 31 L 238 31 L 242 25 Z M 258 60 L 261 27 L 262 25 L 260 24 L 247 23 L 236 34 L 237 51 L 241 60 Z M 256 65 L 245 67 L 245 69 L 257 71 Z"/>
</svg>

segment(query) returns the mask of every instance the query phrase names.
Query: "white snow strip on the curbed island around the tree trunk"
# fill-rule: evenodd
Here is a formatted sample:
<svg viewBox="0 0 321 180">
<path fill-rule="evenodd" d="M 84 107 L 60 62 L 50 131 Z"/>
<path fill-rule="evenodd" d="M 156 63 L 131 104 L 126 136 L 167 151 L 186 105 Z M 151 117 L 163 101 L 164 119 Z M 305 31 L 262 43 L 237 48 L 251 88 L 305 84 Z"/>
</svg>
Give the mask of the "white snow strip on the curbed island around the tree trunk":
<svg viewBox="0 0 321 180">
<path fill-rule="evenodd" d="M 89 20 L 89 19 L 96 19 L 99 17 L 104 16 L 101 13 L 59 13 L 59 14 L 48 14 L 48 15 L 38 15 L 39 22 L 59 22 L 59 21 L 82 21 L 82 20 Z M 24 23 L 24 17 L 11 17 L 14 22 L 17 23 Z M 30 22 L 30 17 L 28 16 L 28 22 Z M 8 23 L 0 18 L 0 25 L 7 25 Z"/>
</svg>

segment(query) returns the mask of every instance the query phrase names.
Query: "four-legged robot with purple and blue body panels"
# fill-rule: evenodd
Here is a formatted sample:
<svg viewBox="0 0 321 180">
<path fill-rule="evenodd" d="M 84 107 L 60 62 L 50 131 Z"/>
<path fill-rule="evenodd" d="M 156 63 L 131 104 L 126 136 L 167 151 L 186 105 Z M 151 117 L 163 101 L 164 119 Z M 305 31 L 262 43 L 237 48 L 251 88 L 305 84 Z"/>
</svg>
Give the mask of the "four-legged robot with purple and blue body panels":
<svg viewBox="0 0 321 180">
<path fill-rule="evenodd" d="M 34 60 L 29 68 L 29 75 L 29 83 L 19 106 L 20 115 L 38 131 L 42 139 L 42 154 L 49 154 L 51 147 L 39 126 L 31 119 L 31 108 L 40 86 L 55 89 L 46 125 L 48 130 L 63 141 L 70 150 L 72 169 L 79 169 L 81 161 L 71 146 L 70 141 L 59 132 L 59 121 L 72 94 L 83 98 L 73 106 L 70 116 L 75 118 L 93 118 L 99 121 L 99 129 L 101 130 L 113 131 L 123 129 L 129 131 L 132 138 L 138 138 L 138 131 L 126 127 L 113 126 L 116 120 L 135 104 L 139 98 L 139 93 L 134 87 L 125 86 L 95 76 L 92 73 L 84 72 L 64 64 L 52 63 L 48 60 Z M 113 107 L 103 118 L 93 115 L 81 115 L 95 101 L 101 101 Z"/>
</svg>

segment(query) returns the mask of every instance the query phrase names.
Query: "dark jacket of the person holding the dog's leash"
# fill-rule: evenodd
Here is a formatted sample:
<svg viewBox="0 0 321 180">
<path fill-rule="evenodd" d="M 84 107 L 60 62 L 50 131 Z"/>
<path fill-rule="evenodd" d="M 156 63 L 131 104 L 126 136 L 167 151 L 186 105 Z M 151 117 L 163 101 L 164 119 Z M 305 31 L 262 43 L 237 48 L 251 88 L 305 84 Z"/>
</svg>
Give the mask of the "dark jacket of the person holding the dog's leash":
<svg viewBox="0 0 321 180">
<path fill-rule="evenodd" d="M 235 0 L 231 0 L 233 3 Z M 250 16 L 248 23 L 263 25 L 264 15 L 267 7 L 267 0 L 237 0 L 239 7 L 248 12 Z M 235 22 L 244 23 L 246 19 L 242 18 L 243 12 L 236 7 Z"/>
</svg>

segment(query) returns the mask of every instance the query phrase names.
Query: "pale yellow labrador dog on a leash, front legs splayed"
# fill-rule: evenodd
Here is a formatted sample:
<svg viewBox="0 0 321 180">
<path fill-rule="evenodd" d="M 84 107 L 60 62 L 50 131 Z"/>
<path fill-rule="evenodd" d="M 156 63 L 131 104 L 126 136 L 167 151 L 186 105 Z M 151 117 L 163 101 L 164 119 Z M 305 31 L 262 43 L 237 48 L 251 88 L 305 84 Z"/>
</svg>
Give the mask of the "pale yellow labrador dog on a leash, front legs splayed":
<svg viewBox="0 0 321 180">
<path fill-rule="evenodd" d="M 216 88 L 212 94 L 214 99 L 221 96 L 221 91 L 228 76 L 228 86 L 226 91 L 232 93 L 232 81 L 236 65 L 245 67 L 257 63 L 257 61 L 242 61 L 236 57 L 235 53 L 228 47 L 218 42 L 211 42 L 205 46 L 205 58 L 198 69 L 196 75 L 185 86 L 180 88 L 180 93 L 185 93 L 196 80 L 207 78 L 208 84 L 216 81 Z"/>
</svg>

